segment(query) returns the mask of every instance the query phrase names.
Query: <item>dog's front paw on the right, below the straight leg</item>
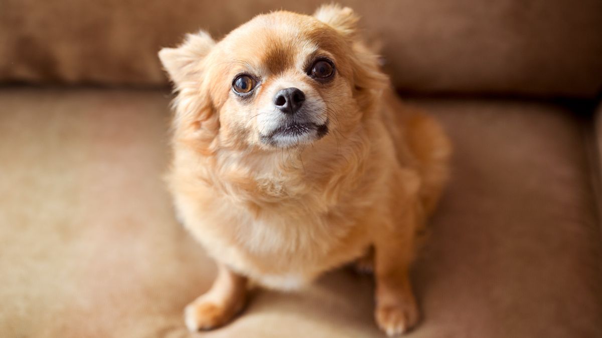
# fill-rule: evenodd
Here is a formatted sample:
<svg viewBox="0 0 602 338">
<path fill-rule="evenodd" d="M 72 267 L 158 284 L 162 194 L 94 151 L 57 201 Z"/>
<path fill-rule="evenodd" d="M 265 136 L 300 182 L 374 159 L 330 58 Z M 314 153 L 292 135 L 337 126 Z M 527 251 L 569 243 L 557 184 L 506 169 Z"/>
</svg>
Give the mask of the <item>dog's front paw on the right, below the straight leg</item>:
<svg viewBox="0 0 602 338">
<path fill-rule="evenodd" d="M 414 302 L 377 306 L 376 322 L 387 336 L 399 336 L 418 323 L 418 308 Z"/>
</svg>

